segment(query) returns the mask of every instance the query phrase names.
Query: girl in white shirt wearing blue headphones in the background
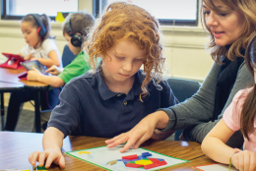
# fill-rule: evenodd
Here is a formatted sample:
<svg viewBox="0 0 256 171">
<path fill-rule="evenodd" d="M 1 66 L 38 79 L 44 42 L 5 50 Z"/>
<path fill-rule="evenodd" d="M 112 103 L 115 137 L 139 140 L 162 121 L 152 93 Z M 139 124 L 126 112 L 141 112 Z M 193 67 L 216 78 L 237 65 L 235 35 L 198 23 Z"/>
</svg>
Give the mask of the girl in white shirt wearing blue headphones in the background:
<svg viewBox="0 0 256 171">
<path fill-rule="evenodd" d="M 37 60 L 46 67 L 61 66 L 59 50 L 50 35 L 50 19 L 45 14 L 29 14 L 21 28 L 28 43 L 19 53 L 25 60 Z"/>
</svg>

